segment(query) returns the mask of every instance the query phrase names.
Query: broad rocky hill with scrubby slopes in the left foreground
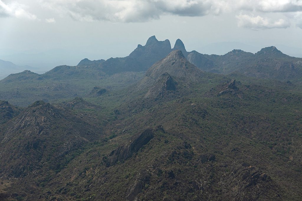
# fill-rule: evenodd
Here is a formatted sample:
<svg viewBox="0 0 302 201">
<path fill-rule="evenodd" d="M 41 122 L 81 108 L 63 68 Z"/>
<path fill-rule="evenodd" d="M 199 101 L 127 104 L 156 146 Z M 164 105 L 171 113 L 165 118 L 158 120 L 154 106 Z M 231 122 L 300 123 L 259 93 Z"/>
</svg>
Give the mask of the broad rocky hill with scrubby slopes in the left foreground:
<svg viewBox="0 0 302 201">
<path fill-rule="evenodd" d="M 2 129 L 0 174 L 23 178 L 60 171 L 81 147 L 101 136 L 96 128 L 68 109 L 34 102 Z"/>
</svg>

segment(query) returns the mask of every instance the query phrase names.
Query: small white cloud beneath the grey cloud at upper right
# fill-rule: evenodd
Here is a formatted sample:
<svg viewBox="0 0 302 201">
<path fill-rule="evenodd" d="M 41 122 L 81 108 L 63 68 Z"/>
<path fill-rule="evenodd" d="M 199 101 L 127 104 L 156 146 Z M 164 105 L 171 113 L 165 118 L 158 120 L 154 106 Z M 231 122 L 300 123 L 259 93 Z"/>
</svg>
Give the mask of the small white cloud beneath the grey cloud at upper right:
<svg viewBox="0 0 302 201">
<path fill-rule="evenodd" d="M 284 19 L 273 21 L 261 16 L 249 16 L 247 14 L 237 15 L 238 26 L 251 29 L 272 29 L 272 28 L 288 28 L 290 23 Z"/>
</svg>

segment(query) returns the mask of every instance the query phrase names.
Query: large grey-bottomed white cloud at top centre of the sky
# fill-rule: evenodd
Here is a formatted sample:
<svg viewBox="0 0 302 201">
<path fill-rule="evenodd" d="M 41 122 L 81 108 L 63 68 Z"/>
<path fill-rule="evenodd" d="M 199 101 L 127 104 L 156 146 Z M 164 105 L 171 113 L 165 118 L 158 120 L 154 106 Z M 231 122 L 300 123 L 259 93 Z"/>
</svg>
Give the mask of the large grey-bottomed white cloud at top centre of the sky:
<svg viewBox="0 0 302 201">
<path fill-rule="evenodd" d="M 165 14 L 219 14 L 226 5 L 222 0 L 40 0 L 40 3 L 74 20 L 114 22 L 143 22 Z"/>
</svg>

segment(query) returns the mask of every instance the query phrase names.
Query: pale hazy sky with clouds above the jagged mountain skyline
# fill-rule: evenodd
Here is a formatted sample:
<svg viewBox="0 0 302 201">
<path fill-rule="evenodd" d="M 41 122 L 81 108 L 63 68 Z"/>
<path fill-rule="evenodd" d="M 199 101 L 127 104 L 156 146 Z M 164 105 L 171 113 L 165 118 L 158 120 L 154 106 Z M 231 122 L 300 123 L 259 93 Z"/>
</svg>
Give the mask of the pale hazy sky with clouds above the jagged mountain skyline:
<svg viewBox="0 0 302 201">
<path fill-rule="evenodd" d="M 206 54 L 302 57 L 302 0 L 0 0 L 0 26 L 0 59 L 44 70 L 124 57 L 153 35 Z"/>
</svg>

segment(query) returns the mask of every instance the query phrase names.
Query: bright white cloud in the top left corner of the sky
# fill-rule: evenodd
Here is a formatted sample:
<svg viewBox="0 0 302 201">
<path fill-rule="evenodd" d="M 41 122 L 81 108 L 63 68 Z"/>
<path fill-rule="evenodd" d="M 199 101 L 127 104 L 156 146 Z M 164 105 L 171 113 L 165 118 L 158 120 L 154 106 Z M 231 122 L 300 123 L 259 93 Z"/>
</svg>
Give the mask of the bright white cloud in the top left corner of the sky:
<svg viewBox="0 0 302 201">
<path fill-rule="evenodd" d="M 5 4 L 0 0 L 0 17 L 17 17 L 20 19 L 36 20 L 37 16 L 26 11 L 26 6 L 18 2 Z"/>
</svg>

